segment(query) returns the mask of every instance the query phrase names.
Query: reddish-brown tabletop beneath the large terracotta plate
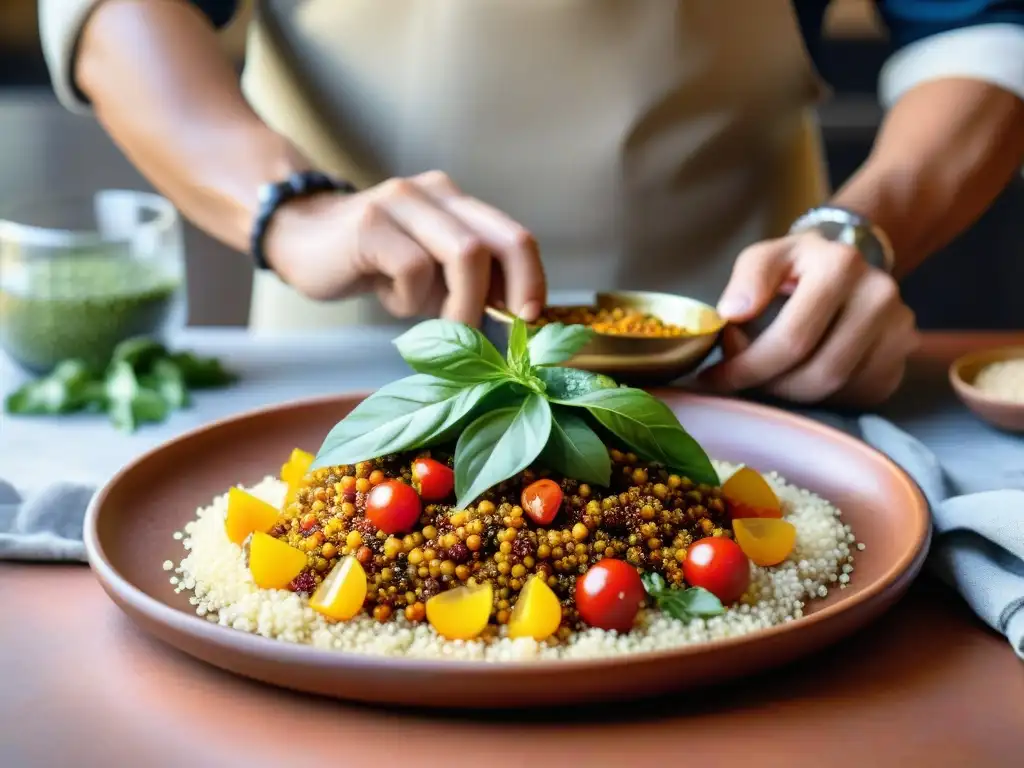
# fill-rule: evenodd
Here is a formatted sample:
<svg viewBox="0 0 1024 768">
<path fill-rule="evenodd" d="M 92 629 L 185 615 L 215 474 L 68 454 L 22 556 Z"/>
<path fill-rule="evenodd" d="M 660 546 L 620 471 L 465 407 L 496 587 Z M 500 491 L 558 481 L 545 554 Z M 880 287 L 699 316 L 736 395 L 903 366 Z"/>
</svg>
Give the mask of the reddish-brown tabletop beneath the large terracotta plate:
<svg viewBox="0 0 1024 768">
<path fill-rule="evenodd" d="M 919 403 L 926 385 L 942 388 L 955 354 L 1022 342 L 1020 334 L 928 337 L 904 406 Z M 231 410 L 260 404 L 247 397 L 236 397 Z M 967 426 L 970 417 L 948 399 L 943 408 L 965 428 L 977 426 Z M 914 418 L 901 425 L 916 423 L 922 436 L 924 412 Z M 185 417 L 173 428 L 188 426 Z M 10 431 L 0 435 L 7 440 Z M 150 439 L 137 436 L 121 450 Z M 1017 438 L 992 432 L 991 439 Z M 6 473 L 12 452 L 0 455 Z M 43 453 L 35 461 L 42 456 L 49 459 Z M 640 705 L 525 715 L 395 712 L 228 675 L 143 635 L 81 565 L 0 565 L 0 765 L 12 768 L 527 766 L 539 759 L 1019 766 L 1024 753 L 1024 667 L 1005 639 L 927 577 L 872 627 L 782 670 Z"/>
</svg>

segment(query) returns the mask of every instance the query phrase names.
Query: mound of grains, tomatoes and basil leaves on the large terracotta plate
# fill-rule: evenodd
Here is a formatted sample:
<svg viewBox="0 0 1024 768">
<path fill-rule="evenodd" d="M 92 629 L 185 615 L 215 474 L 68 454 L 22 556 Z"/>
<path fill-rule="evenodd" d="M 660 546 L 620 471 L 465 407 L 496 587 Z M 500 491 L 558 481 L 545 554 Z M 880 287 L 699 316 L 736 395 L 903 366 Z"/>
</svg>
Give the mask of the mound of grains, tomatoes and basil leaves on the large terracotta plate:
<svg viewBox="0 0 1024 768">
<path fill-rule="evenodd" d="M 265 637 L 501 662 L 745 635 L 849 583 L 860 545 L 839 510 L 712 462 L 645 392 L 535 365 L 585 343 L 562 329 L 514 332 L 507 359 L 453 324 L 399 338 L 417 370 L 456 348 L 462 381 L 385 387 L 316 457 L 198 510 L 164 564 L 175 589 Z"/>
</svg>

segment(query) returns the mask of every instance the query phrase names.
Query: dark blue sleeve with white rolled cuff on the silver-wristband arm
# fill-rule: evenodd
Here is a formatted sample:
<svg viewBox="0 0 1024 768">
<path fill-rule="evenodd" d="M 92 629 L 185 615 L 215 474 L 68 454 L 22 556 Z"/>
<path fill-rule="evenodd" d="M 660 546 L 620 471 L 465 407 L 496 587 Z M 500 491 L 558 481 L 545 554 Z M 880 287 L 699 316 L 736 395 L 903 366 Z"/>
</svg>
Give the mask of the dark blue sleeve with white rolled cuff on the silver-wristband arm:
<svg viewBox="0 0 1024 768">
<path fill-rule="evenodd" d="M 970 78 L 1024 99 L 1024 0 L 876 0 L 895 51 L 882 69 L 886 106 L 921 83 Z"/>
</svg>

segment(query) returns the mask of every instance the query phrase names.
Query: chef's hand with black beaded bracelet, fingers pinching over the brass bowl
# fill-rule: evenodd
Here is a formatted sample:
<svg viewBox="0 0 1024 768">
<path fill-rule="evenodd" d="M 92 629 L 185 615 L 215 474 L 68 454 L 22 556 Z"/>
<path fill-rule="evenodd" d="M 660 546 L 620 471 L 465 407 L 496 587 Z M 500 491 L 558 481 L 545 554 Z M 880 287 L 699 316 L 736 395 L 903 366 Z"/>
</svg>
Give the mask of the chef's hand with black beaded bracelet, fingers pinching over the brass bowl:
<svg viewBox="0 0 1024 768">
<path fill-rule="evenodd" d="M 436 171 L 283 206 L 264 249 L 282 280 L 309 298 L 375 291 L 398 317 L 476 325 L 490 301 L 528 322 L 546 300 L 530 233 Z"/>
</svg>

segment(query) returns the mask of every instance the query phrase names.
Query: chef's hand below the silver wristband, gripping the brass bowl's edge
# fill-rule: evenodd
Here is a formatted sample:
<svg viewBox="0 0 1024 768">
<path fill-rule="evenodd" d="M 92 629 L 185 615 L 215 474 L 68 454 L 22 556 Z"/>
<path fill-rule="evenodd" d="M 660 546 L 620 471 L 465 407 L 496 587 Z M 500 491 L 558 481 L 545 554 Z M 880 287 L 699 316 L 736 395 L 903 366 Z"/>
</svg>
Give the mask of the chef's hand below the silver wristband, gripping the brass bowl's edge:
<svg viewBox="0 0 1024 768">
<path fill-rule="evenodd" d="M 849 246 L 803 232 L 744 250 L 719 311 L 742 324 L 779 293 L 788 301 L 753 341 L 726 328 L 725 357 L 705 372 L 706 384 L 859 407 L 879 404 L 897 389 L 918 334 L 890 275 Z"/>
</svg>

